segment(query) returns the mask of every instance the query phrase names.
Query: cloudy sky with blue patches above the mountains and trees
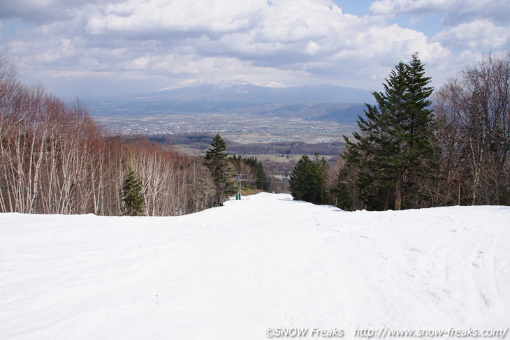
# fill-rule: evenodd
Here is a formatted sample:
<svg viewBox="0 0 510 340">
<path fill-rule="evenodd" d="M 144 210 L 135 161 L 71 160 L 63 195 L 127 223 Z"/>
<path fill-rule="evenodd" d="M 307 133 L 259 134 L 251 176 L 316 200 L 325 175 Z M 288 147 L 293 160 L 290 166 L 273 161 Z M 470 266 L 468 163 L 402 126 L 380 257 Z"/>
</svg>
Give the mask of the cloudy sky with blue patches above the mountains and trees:
<svg viewBox="0 0 510 340">
<path fill-rule="evenodd" d="M 0 0 L 0 54 L 57 96 L 190 80 L 379 91 L 414 52 L 441 86 L 510 50 L 508 0 Z"/>
</svg>

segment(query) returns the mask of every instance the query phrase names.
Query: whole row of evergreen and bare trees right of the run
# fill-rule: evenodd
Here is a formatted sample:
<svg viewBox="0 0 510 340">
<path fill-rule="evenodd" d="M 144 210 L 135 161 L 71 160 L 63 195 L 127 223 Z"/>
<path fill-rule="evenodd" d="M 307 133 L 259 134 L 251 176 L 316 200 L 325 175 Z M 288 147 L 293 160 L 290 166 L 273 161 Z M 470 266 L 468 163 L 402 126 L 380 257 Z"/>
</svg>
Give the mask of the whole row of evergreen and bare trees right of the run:
<svg viewBox="0 0 510 340">
<path fill-rule="evenodd" d="M 418 54 L 397 64 L 326 175 L 319 158 L 296 164 L 294 198 L 349 210 L 509 205 L 510 54 L 465 66 L 437 91 L 430 81 Z"/>
</svg>

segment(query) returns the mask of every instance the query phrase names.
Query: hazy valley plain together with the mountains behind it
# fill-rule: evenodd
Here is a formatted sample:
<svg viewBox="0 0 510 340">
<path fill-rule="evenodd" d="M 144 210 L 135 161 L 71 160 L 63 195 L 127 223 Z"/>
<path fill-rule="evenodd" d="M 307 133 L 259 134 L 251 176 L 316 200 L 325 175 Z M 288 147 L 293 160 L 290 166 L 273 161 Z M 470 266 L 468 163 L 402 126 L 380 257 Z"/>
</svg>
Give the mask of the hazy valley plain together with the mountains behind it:
<svg viewBox="0 0 510 340">
<path fill-rule="evenodd" d="M 113 135 L 143 136 L 203 157 L 219 133 L 228 154 L 257 158 L 272 175 L 319 154 L 334 161 L 363 114 L 367 91 L 323 84 L 275 88 L 232 82 L 192 83 L 148 94 L 86 98 L 96 121 Z"/>
</svg>

